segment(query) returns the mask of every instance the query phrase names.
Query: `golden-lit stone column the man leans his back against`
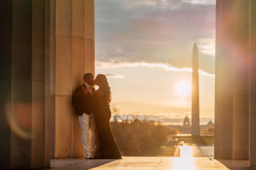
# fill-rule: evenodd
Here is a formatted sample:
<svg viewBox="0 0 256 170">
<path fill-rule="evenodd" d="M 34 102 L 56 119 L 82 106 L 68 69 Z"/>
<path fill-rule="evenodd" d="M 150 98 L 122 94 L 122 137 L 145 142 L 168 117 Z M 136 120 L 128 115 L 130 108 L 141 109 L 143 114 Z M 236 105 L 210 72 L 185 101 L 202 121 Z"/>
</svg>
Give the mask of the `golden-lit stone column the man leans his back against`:
<svg viewBox="0 0 256 170">
<path fill-rule="evenodd" d="M 84 156 L 81 128 L 71 104 L 85 72 L 94 74 L 94 1 L 51 1 L 50 92 L 54 97 L 52 157 Z M 54 14 L 53 14 L 54 13 Z"/>
</svg>

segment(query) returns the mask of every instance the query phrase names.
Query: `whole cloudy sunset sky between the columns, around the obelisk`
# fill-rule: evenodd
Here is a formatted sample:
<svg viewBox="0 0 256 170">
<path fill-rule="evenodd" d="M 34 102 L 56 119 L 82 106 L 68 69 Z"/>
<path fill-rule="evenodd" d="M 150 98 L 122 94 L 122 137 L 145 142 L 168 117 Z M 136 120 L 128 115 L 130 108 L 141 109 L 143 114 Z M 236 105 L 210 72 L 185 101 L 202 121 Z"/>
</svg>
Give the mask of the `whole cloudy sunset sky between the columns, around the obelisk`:
<svg viewBox="0 0 256 170">
<path fill-rule="evenodd" d="M 121 114 L 190 117 L 195 41 L 206 123 L 214 117 L 215 0 L 95 1 L 95 74 L 108 75 Z"/>
</svg>

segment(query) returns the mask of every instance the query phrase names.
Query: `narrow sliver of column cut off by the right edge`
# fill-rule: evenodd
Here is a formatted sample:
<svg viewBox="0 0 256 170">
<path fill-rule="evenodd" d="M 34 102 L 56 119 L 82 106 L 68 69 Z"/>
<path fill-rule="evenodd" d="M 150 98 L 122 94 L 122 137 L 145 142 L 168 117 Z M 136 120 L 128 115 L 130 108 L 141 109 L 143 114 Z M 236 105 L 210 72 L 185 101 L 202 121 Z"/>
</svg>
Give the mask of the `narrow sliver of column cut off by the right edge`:
<svg viewBox="0 0 256 170">
<path fill-rule="evenodd" d="M 250 1 L 250 165 L 256 169 L 256 2 Z"/>
</svg>

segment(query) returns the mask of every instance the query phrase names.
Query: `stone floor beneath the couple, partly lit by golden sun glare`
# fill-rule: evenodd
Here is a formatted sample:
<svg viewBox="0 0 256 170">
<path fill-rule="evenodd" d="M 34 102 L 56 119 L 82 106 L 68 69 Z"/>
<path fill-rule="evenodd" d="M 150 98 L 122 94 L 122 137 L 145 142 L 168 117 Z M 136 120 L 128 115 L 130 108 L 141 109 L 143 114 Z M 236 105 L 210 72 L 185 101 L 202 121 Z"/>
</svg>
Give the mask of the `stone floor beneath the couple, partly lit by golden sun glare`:
<svg viewBox="0 0 256 170">
<path fill-rule="evenodd" d="M 207 157 L 123 157 L 120 160 L 113 159 L 51 159 L 51 169 L 58 170 L 218 170 L 218 169 L 250 169 L 248 160 L 215 160 Z"/>
</svg>

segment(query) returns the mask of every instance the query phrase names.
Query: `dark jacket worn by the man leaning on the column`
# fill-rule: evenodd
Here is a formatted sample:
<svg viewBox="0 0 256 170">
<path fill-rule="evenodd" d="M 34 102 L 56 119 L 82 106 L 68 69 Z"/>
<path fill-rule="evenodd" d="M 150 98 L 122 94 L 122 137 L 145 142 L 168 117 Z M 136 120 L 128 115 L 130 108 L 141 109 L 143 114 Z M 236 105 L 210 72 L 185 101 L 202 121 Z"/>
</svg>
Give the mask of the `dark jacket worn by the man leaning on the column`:
<svg viewBox="0 0 256 170">
<path fill-rule="evenodd" d="M 72 97 L 72 104 L 75 108 L 77 116 L 82 116 L 83 113 L 90 115 L 92 112 L 92 95 L 90 92 L 85 94 L 82 87 L 86 89 L 85 84 L 76 88 Z"/>
</svg>

